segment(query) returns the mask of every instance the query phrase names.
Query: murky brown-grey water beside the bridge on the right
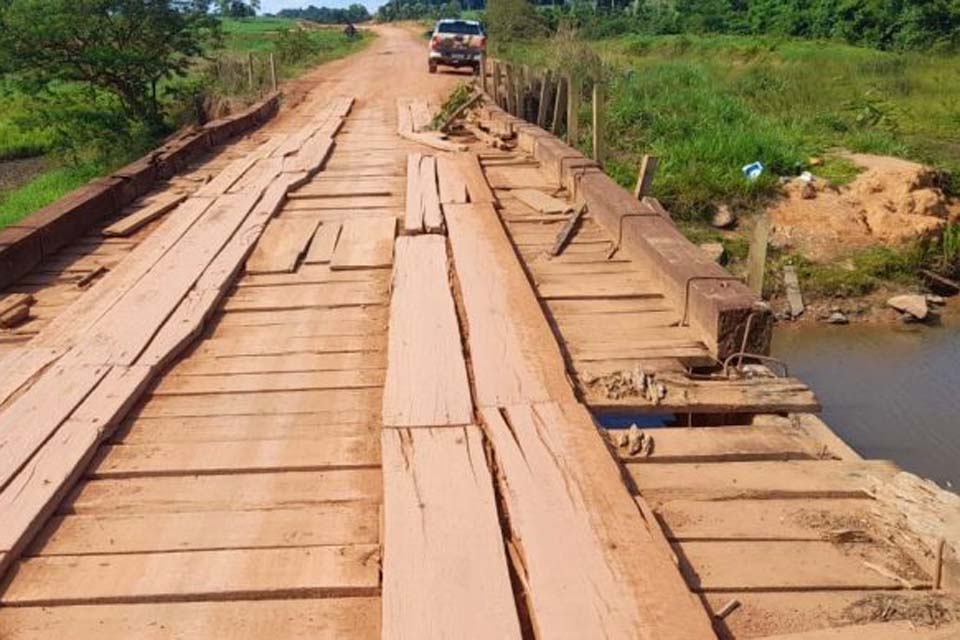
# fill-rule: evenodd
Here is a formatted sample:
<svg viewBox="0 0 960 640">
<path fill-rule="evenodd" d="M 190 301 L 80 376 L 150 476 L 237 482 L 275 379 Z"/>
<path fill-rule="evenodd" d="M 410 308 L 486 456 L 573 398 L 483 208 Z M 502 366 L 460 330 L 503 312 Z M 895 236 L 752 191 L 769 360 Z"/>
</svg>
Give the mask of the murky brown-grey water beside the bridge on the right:
<svg viewBox="0 0 960 640">
<path fill-rule="evenodd" d="M 868 458 L 960 491 L 960 318 L 937 327 L 779 327 L 774 354 Z"/>
</svg>

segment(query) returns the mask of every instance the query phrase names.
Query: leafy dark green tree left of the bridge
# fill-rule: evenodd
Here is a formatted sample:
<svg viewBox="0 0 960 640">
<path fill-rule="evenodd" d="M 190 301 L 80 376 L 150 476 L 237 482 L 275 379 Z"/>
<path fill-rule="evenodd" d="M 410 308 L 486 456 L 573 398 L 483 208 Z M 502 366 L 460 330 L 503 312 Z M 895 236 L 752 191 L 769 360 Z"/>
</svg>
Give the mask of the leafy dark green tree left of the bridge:
<svg viewBox="0 0 960 640">
<path fill-rule="evenodd" d="M 115 96 L 127 117 L 162 127 L 157 85 L 184 76 L 218 23 L 196 0 L 7 0 L 3 66 L 40 90 L 80 83 Z"/>
</svg>

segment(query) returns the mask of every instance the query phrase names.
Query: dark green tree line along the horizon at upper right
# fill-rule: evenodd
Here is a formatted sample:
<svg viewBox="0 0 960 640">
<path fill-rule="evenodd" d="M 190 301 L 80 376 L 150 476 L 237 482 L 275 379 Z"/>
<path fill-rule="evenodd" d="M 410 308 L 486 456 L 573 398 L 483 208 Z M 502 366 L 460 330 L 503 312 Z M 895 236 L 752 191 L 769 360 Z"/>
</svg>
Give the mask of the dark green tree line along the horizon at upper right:
<svg viewBox="0 0 960 640">
<path fill-rule="evenodd" d="M 392 0 L 381 20 L 510 15 L 506 37 L 561 24 L 588 37 L 620 33 L 779 35 L 840 40 L 885 50 L 960 45 L 960 0 Z M 498 20 L 490 20 L 496 32 Z M 496 35 L 496 34 L 495 34 Z"/>
</svg>

